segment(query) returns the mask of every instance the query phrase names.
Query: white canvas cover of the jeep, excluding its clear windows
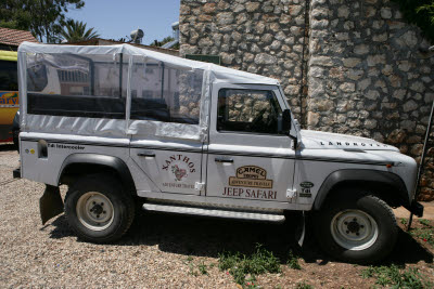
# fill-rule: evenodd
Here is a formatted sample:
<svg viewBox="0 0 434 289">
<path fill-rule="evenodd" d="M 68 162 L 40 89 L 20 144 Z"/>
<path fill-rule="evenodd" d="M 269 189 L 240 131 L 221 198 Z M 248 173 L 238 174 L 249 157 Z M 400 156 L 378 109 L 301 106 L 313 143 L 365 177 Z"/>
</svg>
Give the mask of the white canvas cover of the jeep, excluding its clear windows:
<svg viewBox="0 0 434 289">
<path fill-rule="evenodd" d="M 130 119 L 131 106 L 131 66 L 128 69 L 128 89 L 126 95 L 126 118 L 105 119 L 68 116 L 49 116 L 27 114 L 27 57 L 38 54 L 78 54 L 78 55 L 113 55 L 140 56 L 146 61 L 164 63 L 168 67 L 181 70 L 203 70 L 202 93 L 200 98 L 199 124 L 164 122 L 155 120 Z M 18 78 L 21 93 L 21 124 L 23 131 L 75 133 L 80 135 L 99 135 L 124 137 L 128 134 L 145 134 L 164 137 L 179 137 L 203 141 L 207 134 L 208 105 L 210 104 L 212 83 L 270 84 L 278 86 L 276 79 L 222 67 L 215 64 L 186 60 L 155 51 L 140 49 L 129 44 L 118 45 L 54 45 L 23 42 L 18 48 Z"/>
</svg>

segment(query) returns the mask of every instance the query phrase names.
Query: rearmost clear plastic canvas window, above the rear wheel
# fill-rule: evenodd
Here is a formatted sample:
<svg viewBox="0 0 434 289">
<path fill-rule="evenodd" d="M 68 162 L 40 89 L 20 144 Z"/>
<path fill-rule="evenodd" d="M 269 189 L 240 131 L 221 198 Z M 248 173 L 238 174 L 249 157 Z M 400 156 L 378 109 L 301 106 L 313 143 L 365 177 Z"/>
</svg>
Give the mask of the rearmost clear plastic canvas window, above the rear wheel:
<svg viewBox="0 0 434 289">
<path fill-rule="evenodd" d="M 29 54 L 27 111 L 91 118 L 125 118 L 125 55 Z"/>
</svg>

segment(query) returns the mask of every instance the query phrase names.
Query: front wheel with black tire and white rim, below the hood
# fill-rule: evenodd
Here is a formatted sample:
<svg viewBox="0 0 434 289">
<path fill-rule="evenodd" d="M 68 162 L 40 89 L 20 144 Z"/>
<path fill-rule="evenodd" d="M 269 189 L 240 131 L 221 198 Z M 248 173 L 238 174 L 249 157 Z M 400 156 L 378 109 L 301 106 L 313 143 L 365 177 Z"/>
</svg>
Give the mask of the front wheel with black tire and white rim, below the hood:
<svg viewBox="0 0 434 289">
<path fill-rule="evenodd" d="M 328 254 L 345 262 L 366 264 L 381 261 L 393 250 L 398 227 L 386 202 L 348 188 L 317 212 L 315 234 Z"/>
</svg>

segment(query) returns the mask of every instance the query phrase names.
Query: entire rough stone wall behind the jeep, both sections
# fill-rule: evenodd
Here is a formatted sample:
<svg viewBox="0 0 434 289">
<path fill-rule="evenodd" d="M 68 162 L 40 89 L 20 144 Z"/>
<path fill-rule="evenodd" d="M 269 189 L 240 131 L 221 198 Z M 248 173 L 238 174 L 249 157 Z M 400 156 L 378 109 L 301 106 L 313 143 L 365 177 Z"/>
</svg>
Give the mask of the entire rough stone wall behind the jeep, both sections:
<svg viewBox="0 0 434 289">
<path fill-rule="evenodd" d="M 420 156 L 434 53 L 390 0 L 181 0 L 180 32 L 181 55 L 279 79 L 303 127 Z M 434 199 L 429 155 L 421 199 Z"/>
</svg>

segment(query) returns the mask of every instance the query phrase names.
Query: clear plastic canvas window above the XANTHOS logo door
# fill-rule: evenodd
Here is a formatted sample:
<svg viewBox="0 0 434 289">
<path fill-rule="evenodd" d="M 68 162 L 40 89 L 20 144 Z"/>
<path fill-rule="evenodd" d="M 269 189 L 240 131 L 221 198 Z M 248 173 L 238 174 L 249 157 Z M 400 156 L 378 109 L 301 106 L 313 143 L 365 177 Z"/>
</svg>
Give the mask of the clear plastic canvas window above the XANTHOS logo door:
<svg viewBox="0 0 434 289">
<path fill-rule="evenodd" d="M 131 119 L 199 124 L 203 73 L 136 57 Z"/>
</svg>

